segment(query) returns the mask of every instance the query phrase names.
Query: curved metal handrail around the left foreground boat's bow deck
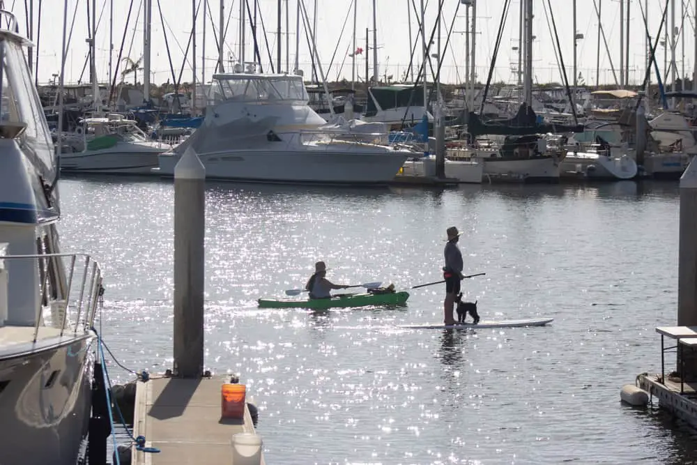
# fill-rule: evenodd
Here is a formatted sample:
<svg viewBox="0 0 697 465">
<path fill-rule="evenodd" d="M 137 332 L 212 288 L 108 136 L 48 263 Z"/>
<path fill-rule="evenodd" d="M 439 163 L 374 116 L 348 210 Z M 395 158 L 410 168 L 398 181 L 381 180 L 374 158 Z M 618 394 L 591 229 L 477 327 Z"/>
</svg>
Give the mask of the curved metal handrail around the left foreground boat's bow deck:
<svg viewBox="0 0 697 465">
<path fill-rule="evenodd" d="M 75 267 L 77 265 L 77 258 L 84 257 L 84 265 L 82 268 L 82 277 L 79 279 L 79 293 L 77 297 L 77 303 L 72 304 L 71 294 L 72 285 L 75 280 Z M 57 253 L 57 254 L 28 254 L 28 255 L 0 255 L 0 260 L 21 260 L 21 259 L 36 259 L 38 264 L 43 269 L 43 280 L 41 282 L 41 298 L 36 311 L 36 320 L 34 321 L 34 335 L 33 342 L 38 339 L 38 332 L 43 319 L 43 314 L 45 310 L 45 305 L 43 305 L 44 296 L 47 294 L 48 284 L 49 284 L 49 269 L 52 266 L 57 266 L 54 259 L 69 259 L 69 263 L 62 263 L 62 266 L 69 266 L 68 270 L 68 280 L 67 289 L 64 291 L 64 295 L 59 296 L 59 300 L 63 305 L 65 305 L 65 310 L 62 315 L 60 322 L 53 321 L 54 325 L 59 323 L 61 326 L 61 337 L 65 333 L 68 327 L 68 315 L 72 312 L 75 313 L 75 325 L 73 326 L 73 334 L 77 335 L 78 330 L 86 330 L 90 328 L 95 319 L 96 310 L 99 305 L 100 290 L 102 288 L 102 271 L 97 261 L 92 259 L 89 254 L 77 253 Z M 79 266 L 79 265 L 77 265 Z M 11 273 L 11 271 L 10 271 Z M 52 283 L 52 286 L 56 283 Z M 48 303 L 56 302 L 56 300 L 48 300 Z M 72 326 L 72 325 L 70 325 Z"/>
</svg>

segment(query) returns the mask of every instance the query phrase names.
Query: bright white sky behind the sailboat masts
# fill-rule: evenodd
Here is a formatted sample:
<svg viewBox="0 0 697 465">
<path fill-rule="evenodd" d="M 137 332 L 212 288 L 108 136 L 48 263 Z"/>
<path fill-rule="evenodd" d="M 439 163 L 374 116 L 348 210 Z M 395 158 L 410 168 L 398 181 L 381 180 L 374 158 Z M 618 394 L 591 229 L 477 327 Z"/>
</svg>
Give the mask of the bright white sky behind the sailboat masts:
<svg viewBox="0 0 697 465">
<path fill-rule="evenodd" d="M 24 3 L 29 3 L 30 0 L 5 0 L 6 8 L 13 8 L 15 15 L 17 15 L 17 20 L 20 22 L 20 27 L 23 32 L 26 32 L 26 15 L 24 13 Z M 63 2 L 65 0 L 43 0 L 43 11 L 41 17 L 41 36 L 40 36 L 40 46 L 39 46 L 39 80 L 40 82 L 47 82 L 51 79 L 54 73 L 59 73 L 60 70 L 60 48 L 61 48 L 61 35 L 62 35 L 62 24 L 63 24 Z M 77 6 L 77 15 L 75 16 L 75 25 L 72 32 L 72 39 L 70 40 L 70 47 L 68 52 L 68 61 L 66 63 L 66 82 L 77 82 L 82 72 L 84 65 L 84 60 L 86 57 L 87 45 L 85 43 L 85 38 L 87 37 L 87 22 L 86 22 L 86 4 L 88 0 L 68 0 L 68 28 L 70 27 L 70 22 L 72 21 L 73 15 L 75 14 L 75 8 Z M 89 0 L 91 2 L 91 0 Z M 158 10 L 158 0 L 153 1 L 153 19 L 152 19 L 152 81 L 156 84 L 161 84 L 166 82 L 169 78 L 171 79 L 171 71 L 169 70 L 169 61 L 167 58 L 167 48 L 164 43 L 164 31 L 167 33 L 167 40 L 169 40 L 169 47 L 171 51 L 172 61 L 174 63 L 174 69 L 176 75 L 180 72 L 183 63 L 183 49 L 186 47 L 186 43 L 192 27 L 192 1 L 190 0 L 160 0 L 162 6 L 162 13 L 164 16 L 165 27 L 163 30 L 162 22 L 160 20 L 160 14 Z M 194 0 L 197 4 L 204 0 Z M 254 8 L 254 0 L 247 0 L 250 4 L 250 8 Z M 259 9 L 261 15 L 263 16 L 264 24 L 266 26 L 268 43 L 272 49 L 272 56 L 276 60 L 276 0 L 257 0 L 259 3 Z M 290 61 L 291 69 L 293 68 L 293 61 L 296 56 L 296 45 L 295 45 L 295 31 L 296 31 L 296 1 L 300 0 L 282 0 L 284 6 L 284 19 L 283 19 L 283 31 L 282 40 L 285 41 L 286 38 L 290 38 Z M 304 0 L 307 8 L 308 14 L 312 17 L 314 0 Z M 352 34 L 353 34 L 353 13 L 349 14 L 351 10 L 353 0 L 317 0 L 318 3 L 318 21 L 317 21 L 317 49 L 319 51 L 319 56 L 321 58 L 321 63 L 325 73 L 328 75 L 328 80 L 332 81 L 337 78 L 339 74 L 339 68 L 346 57 L 346 62 L 344 63 L 343 70 L 341 72 L 342 77 L 351 79 L 351 58 L 347 57 L 346 54 L 351 50 Z M 358 35 L 358 46 L 365 48 L 365 29 L 373 29 L 372 27 L 372 0 L 355 0 L 358 1 L 358 20 L 357 20 L 357 35 Z M 420 6 L 421 0 L 415 0 L 417 8 Z M 425 1 L 425 0 L 424 0 Z M 510 9 L 510 14 L 508 15 L 507 23 L 505 26 L 505 31 L 503 33 L 503 40 L 500 45 L 500 52 L 498 55 L 496 69 L 493 75 L 493 81 L 506 81 L 513 82 L 514 74 L 511 70 L 511 63 L 517 64 L 517 52 L 512 50 L 512 47 L 517 45 L 518 34 L 519 34 L 519 5 L 521 0 L 512 0 L 512 7 Z M 556 81 L 560 82 L 560 74 L 558 71 L 558 66 L 556 63 L 555 55 L 553 52 L 553 39 L 549 31 L 549 27 L 546 22 L 546 15 L 544 6 L 547 6 L 548 0 L 534 0 L 535 8 L 535 46 L 533 47 L 534 54 L 534 74 L 535 82 L 550 82 Z M 618 1 L 612 0 L 595 0 L 596 2 L 602 1 L 602 24 L 605 29 L 606 38 L 608 41 L 608 46 L 611 49 L 612 61 L 615 68 L 618 68 L 620 61 L 620 8 Z M 643 20 L 641 17 L 641 10 L 639 9 L 639 1 L 642 5 L 647 0 L 631 0 L 631 26 L 630 26 L 630 44 L 629 44 L 629 66 L 630 66 L 630 84 L 641 82 L 644 75 L 644 61 L 645 61 L 645 30 L 643 26 Z M 675 27 L 680 29 L 681 26 L 681 7 L 680 0 L 675 0 L 677 5 L 675 6 Z M 35 8 L 35 18 L 37 16 L 36 10 L 38 10 L 39 0 L 33 0 Z M 128 13 L 128 7 L 131 0 L 113 0 L 114 2 L 114 58 L 113 66 L 116 66 L 116 59 L 118 56 L 118 50 L 121 46 L 121 40 L 123 38 L 123 31 L 125 29 L 125 20 Z M 125 45 L 123 50 L 123 56 L 130 56 L 132 59 L 138 59 L 142 54 L 143 49 L 143 13 L 142 4 L 143 0 L 133 0 L 133 9 L 130 23 L 128 24 L 128 31 L 125 35 Z M 231 13 L 231 20 L 229 21 L 227 36 L 225 40 L 225 50 L 226 54 L 230 52 L 234 56 L 237 56 L 239 49 L 239 10 L 240 10 L 240 0 L 224 0 L 225 6 L 225 16 L 226 20 Z M 572 0 L 549 0 L 551 3 L 551 8 L 554 13 L 554 17 L 557 23 L 557 29 L 560 34 L 560 43 L 562 47 L 562 56 L 567 66 L 567 74 L 569 76 L 569 82 L 572 82 L 572 43 L 573 43 L 573 22 L 572 22 Z M 109 0 L 96 0 L 97 3 L 97 15 L 105 10 L 102 20 L 98 27 L 97 32 L 97 47 L 98 47 L 98 62 L 97 70 L 100 80 L 106 81 L 109 73 Z M 285 28 L 285 6 L 289 3 L 290 6 L 290 35 L 286 36 Z M 406 67 L 409 63 L 409 58 L 411 50 L 409 47 L 408 40 L 408 13 L 407 6 L 411 3 L 411 0 L 376 0 L 377 4 L 377 42 L 378 42 L 378 61 L 380 64 L 380 74 L 392 75 L 395 79 L 399 79 L 404 75 Z M 427 32 L 430 34 L 431 28 L 434 26 L 436 21 L 436 12 L 438 9 L 438 0 L 429 0 L 426 2 L 426 24 Z M 454 16 L 454 11 L 457 6 L 457 0 L 446 0 L 444 6 L 444 17 L 443 22 L 443 38 L 442 43 L 445 44 L 445 31 L 450 27 L 450 22 Z M 505 0 L 480 0 L 477 4 L 477 51 L 476 51 L 476 62 L 477 62 L 477 75 L 479 80 L 486 81 L 489 64 L 491 61 L 491 56 L 493 54 L 494 44 L 496 43 L 496 34 L 498 32 L 498 24 L 500 22 L 501 13 L 503 10 L 503 5 Z M 582 33 L 585 38 L 579 40 L 577 48 L 577 68 L 580 73 L 582 73 L 585 82 L 587 84 L 596 84 L 596 57 L 597 57 L 597 16 L 595 14 L 595 8 L 593 7 L 593 0 L 578 0 L 578 13 L 577 13 L 577 26 L 576 29 L 579 33 Z M 649 8 L 649 27 L 653 35 L 655 35 L 659 28 L 659 22 L 661 17 L 661 9 L 664 6 L 664 0 L 648 0 Z M 694 66 L 694 3 L 693 0 L 685 0 L 687 15 L 684 20 L 684 70 L 685 74 L 691 76 L 692 68 Z M 687 5 L 687 3 L 691 3 Z M 211 73 L 215 68 L 215 62 L 217 60 L 217 51 L 215 50 L 215 39 L 213 38 L 213 27 L 216 29 L 219 22 L 220 15 L 220 0 L 208 0 L 208 5 L 213 8 L 210 12 L 213 15 L 213 22 L 215 26 L 212 26 L 210 19 L 208 19 L 206 24 L 206 79 L 210 79 Z M 141 13 L 136 17 L 138 10 Z M 201 80 L 201 57 L 204 52 L 203 43 L 203 20 L 202 17 L 203 7 L 201 6 L 199 13 L 199 21 L 197 21 L 197 79 Z M 670 9 L 669 18 L 670 18 Z M 342 25 L 344 24 L 344 18 L 348 14 L 348 22 L 346 23 L 346 28 L 342 34 Z M 415 38 L 417 33 L 415 15 L 411 15 L 412 19 L 412 33 Z M 670 22 L 670 19 L 668 20 Z M 446 24 L 447 23 L 447 24 Z M 460 12 L 458 13 L 454 22 L 454 31 L 452 38 L 450 39 L 450 47 L 445 52 L 443 63 L 443 80 L 445 82 L 462 82 L 464 74 L 464 34 L 465 30 L 465 20 L 464 20 L 464 6 L 461 6 Z M 665 30 L 665 29 L 664 29 Z M 35 31 L 36 31 L 36 20 L 35 20 Z M 262 64 L 265 70 L 270 70 L 268 53 L 266 52 L 266 45 L 263 41 L 263 36 L 261 34 L 261 23 L 259 22 L 259 33 L 258 38 L 261 47 Z M 36 32 L 34 34 L 34 40 L 36 42 Z M 372 32 L 370 33 L 370 42 L 372 47 Z M 250 28 L 247 26 L 247 40 L 246 40 L 246 56 L 247 60 L 250 59 L 252 53 L 252 39 Z M 329 67 L 332 54 L 334 54 L 335 47 L 337 47 L 337 56 Z M 602 42 L 601 42 L 602 44 Z M 282 60 L 283 68 L 286 68 L 286 51 L 285 43 L 282 45 Z M 436 52 L 436 49 L 432 49 L 432 52 Z M 300 33 L 300 68 L 305 71 L 305 76 L 310 75 L 309 66 L 309 52 L 307 47 L 307 41 L 305 39 L 305 33 L 302 31 L 301 22 L 301 33 Z M 678 76 L 682 73 L 683 69 L 683 52 L 682 52 L 682 38 L 678 36 L 675 61 L 677 63 L 677 74 Z M 357 63 L 357 75 L 365 75 L 365 52 L 363 56 L 359 55 L 360 61 Z M 457 59 L 456 59 L 457 57 Z M 416 52 L 415 61 L 418 63 L 421 60 L 421 47 L 419 46 Z M 657 60 L 659 61 L 659 67 L 661 68 L 661 74 L 665 74 L 664 69 L 664 52 L 661 47 L 657 51 Z M 370 61 L 372 63 L 372 52 L 370 55 Z M 670 61 L 670 49 L 668 49 L 668 61 Z M 192 70 L 191 70 L 191 54 L 187 59 L 187 65 L 183 71 L 183 77 L 181 82 L 190 82 L 192 80 Z M 372 65 L 371 65 L 372 66 Z M 600 54 L 600 82 L 610 83 L 613 82 L 613 76 L 610 71 L 610 61 L 608 60 L 607 53 L 605 52 L 604 45 L 601 46 Z M 123 69 L 123 66 L 121 67 Z M 140 72 L 139 72 L 140 73 Z M 619 71 L 618 71 L 619 73 Z M 372 70 L 371 73 L 372 75 Z M 89 74 L 86 72 L 83 80 L 89 79 Z M 132 77 L 126 77 L 128 80 L 132 80 Z M 139 78 L 141 80 L 141 78 Z M 652 75 L 652 81 L 655 82 L 655 77 Z"/>
</svg>

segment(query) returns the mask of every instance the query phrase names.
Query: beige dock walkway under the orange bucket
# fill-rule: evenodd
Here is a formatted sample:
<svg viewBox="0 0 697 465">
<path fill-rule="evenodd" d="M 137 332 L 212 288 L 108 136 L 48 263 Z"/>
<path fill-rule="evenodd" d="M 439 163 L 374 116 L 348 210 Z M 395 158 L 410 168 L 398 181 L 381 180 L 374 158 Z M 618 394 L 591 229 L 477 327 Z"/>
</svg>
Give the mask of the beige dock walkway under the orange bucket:
<svg viewBox="0 0 697 465">
<path fill-rule="evenodd" d="M 221 418 L 220 387 L 226 382 L 221 378 L 138 381 L 133 436 L 145 436 L 145 447 L 160 452 L 144 452 L 134 445 L 132 464 L 232 464 L 232 436 L 255 430 L 246 406 L 244 419 Z"/>
</svg>

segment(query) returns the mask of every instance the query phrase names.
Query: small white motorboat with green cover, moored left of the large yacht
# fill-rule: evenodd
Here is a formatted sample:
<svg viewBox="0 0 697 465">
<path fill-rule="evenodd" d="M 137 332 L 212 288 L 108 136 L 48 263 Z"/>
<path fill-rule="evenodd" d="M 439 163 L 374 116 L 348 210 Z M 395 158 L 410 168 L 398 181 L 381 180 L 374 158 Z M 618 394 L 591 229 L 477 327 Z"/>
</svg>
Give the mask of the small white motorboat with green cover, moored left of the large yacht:
<svg viewBox="0 0 697 465">
<path fill-rule="evenodd" d="M 151 174 L 158 167 L 158 155 L 172 148 L 149 139 L 136 121 L 121 114 L 86 118 L 82 123 L 63 143 L 61 171 Z"/>
</svg>

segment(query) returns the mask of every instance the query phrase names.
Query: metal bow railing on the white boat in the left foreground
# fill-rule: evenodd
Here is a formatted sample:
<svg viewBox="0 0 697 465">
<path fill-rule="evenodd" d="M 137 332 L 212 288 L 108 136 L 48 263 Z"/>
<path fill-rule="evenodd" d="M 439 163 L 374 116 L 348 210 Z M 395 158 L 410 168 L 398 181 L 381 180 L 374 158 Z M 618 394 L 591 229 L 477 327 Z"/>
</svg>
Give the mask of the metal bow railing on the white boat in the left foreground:
<svg viewBox="0 0 697 465">
<path fill-rule="evenodd" d="M 36 261 L 39 267 L 34 342 L 41 327 L 58 328 L 62 337 L 85 333 L 93 326 L 104 294 L 102 270 L 95 259 L 79 253 L 0 255 L 0 261 L 15 260 Z"/>
</svg>

